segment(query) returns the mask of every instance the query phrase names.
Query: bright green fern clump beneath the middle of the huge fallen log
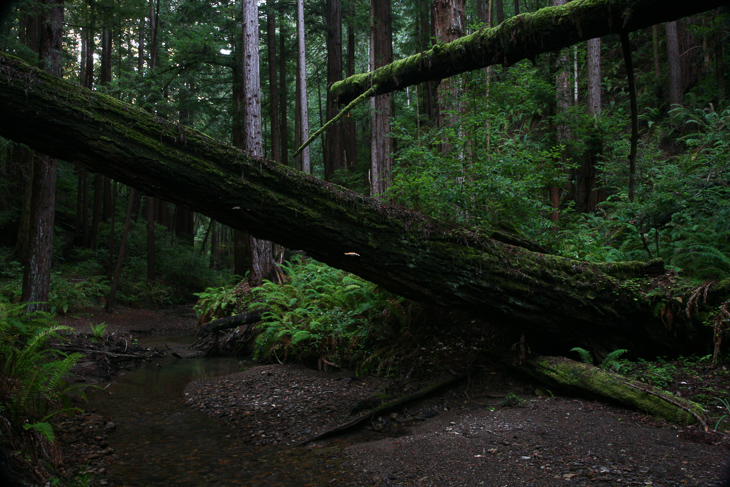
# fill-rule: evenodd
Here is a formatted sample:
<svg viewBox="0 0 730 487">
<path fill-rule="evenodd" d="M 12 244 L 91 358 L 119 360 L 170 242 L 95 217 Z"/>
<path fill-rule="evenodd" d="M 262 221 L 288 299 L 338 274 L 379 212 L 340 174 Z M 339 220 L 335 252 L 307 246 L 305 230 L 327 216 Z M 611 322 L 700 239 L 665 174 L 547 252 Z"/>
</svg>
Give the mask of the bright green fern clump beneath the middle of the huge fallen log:
<svg viewBox="0 0 730 487">
<path fill-rule="evenodd" d="M 266 309 L 256 340 L 257 358 L 289 356 L 340 365 L 366 358 L 383 327 L 407 325 L 403 298 L 319 262 L 283 266 L 289 282 L 265 282 L 252 290 L 250 309 Z"/>
</svg>

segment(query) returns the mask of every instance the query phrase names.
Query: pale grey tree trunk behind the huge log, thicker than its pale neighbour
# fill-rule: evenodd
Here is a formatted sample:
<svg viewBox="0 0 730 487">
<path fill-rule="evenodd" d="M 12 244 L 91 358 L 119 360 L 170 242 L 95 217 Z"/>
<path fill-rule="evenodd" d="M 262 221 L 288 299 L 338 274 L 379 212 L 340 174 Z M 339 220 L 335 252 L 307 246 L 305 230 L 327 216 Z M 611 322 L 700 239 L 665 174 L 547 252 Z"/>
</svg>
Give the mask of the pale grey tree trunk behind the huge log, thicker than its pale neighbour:
<svg viewBox="0 0 730 487">
<path fill-rule="evenodd" d="M 301 2 L 302 0 L 300 0 Z M 301 13 L 303 19 L 303 13 Z M 303 25 L 303 24 L 302 24 Z M 303 35 L 303 32 L 301 32 Z M 259 76 L 259 8 L 258 0 L 243 1 L 243 149 L 252 156 L 263 157 L 261 131 L 261 81 Z M 251 286 L 260 286 L 264 279 L 276 281 L 273 244 L 249 236 Z"/>
</svg>

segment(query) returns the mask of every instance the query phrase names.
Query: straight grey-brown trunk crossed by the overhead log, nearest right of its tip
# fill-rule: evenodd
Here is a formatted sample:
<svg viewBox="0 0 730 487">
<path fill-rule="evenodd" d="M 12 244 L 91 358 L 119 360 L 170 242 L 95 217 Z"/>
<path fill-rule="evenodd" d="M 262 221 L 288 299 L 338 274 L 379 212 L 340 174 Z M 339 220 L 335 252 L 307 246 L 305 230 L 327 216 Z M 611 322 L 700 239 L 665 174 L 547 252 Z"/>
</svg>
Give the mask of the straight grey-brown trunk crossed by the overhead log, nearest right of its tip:
<svg viewBox="0 0 730 487">
<path fill-rule="evenodd" d="M 393 30 L 390 0 L 370 3 L 370 69 L 393 62 Z M 370 195 L 377 197 L 390 186 L 393 167 L 393 139 L 390 117 L 393 96 L 388 93 L 370 99 Z"/>
</svg>

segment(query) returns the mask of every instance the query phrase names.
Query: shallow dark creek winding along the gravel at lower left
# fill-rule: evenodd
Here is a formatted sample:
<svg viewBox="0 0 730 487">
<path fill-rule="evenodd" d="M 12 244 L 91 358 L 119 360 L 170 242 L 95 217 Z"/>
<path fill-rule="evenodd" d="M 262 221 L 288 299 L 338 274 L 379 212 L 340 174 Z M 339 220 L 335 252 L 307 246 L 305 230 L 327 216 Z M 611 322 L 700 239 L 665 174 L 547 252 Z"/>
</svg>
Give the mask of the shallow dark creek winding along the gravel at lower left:
<svg viewBox="0 0 730 487">
<path fill-rule="evenodd" d="M 232 358 L 165 358 L 89 392 L 88 407 L 116 424 L 108 441 L 119 459 L 108 468 L 109 477 L 125 486 L 342 485 L 347 473 L 332 458 L 333 448 L 263 450 L 184 404 L 190 381 L 249 366 Z"/>
</svg>

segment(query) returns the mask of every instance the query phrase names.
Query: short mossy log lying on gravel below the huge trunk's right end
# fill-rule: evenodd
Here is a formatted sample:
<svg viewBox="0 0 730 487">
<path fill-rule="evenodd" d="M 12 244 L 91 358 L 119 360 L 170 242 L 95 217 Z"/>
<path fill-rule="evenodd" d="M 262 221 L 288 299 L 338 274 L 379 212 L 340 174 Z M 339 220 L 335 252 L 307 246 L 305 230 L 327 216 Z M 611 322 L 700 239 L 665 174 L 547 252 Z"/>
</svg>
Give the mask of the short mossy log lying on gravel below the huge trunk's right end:
<svg viewBox="0 0 730 487">
<path fill-rule="evenodd" d="M 600 367 L 564 357 L 537 357 L 521 369 L 551 387 L 589 393 L 673 423 L 700 423 L 707 427 L 704 409 L 699 404 Z"/>
</svg>

